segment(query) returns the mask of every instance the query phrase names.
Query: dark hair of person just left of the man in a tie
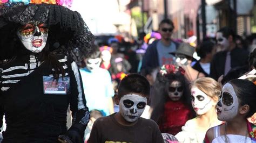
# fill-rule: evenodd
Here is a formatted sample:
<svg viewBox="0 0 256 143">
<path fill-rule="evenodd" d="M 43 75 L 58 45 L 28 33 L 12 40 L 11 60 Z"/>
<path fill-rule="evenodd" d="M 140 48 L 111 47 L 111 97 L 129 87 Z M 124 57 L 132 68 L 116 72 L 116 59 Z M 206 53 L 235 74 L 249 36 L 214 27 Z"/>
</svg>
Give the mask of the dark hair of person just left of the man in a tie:
<svg viewBox="0 0 256 143">
<path fill-rule="evenodd" d="M 200 58 L 205 58 L 206 54 L 211 53 L 214 48 L 214 43 L 210 40 L 203 41 L 197 48 L 197 54 Z"/>
</svg>

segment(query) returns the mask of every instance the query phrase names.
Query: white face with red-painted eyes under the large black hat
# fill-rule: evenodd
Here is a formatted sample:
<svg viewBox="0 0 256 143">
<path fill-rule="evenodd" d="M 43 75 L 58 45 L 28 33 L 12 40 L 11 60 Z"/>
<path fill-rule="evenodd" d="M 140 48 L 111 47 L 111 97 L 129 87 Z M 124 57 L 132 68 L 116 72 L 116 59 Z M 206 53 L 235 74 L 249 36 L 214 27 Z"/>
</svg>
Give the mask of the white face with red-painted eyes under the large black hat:
<svg viewBox="0 0 256 143">
<path fill-rule="evenodd" d="M 48 28 L 43 23 L 29 23 L 19 28 L 17 35 L 26 49 L 39 53 L 46 45 Z"/>
</svg>

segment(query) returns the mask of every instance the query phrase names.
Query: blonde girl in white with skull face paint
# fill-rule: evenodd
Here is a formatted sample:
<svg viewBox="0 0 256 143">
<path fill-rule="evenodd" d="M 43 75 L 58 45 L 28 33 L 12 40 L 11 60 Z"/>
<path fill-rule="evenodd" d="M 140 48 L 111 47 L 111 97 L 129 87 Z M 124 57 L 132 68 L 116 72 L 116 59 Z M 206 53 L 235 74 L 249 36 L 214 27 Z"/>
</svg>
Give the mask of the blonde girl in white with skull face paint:
<svg viewBox="0 0 256 143">
<path fill-rule="evenodd" d="M 210 77 L 198 78 L 191 84 L 191 103 L 198 116 L 188 120 L 175 136 L 180 142 L 203 142 L 206 131 L 221 124 L 216 113 L 220 92 L 220 84 Z"/>
</svg>

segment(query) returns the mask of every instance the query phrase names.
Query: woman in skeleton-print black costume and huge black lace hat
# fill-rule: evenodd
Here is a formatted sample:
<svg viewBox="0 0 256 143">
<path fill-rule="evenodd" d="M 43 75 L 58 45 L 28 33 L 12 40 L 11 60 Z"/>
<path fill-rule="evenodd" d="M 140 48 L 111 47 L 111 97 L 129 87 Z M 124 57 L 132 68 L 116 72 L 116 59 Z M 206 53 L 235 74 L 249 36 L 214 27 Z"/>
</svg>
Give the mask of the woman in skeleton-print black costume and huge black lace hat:
<svg viewBox="0 0 256 143">
<path fill-rule="evenodd" d="M 70 2 L 0 0 L 2 142 L 84 142 L 90 114 L 76 63 L 91 51 L 93 35 L 62 6 Z"/>
</svg>

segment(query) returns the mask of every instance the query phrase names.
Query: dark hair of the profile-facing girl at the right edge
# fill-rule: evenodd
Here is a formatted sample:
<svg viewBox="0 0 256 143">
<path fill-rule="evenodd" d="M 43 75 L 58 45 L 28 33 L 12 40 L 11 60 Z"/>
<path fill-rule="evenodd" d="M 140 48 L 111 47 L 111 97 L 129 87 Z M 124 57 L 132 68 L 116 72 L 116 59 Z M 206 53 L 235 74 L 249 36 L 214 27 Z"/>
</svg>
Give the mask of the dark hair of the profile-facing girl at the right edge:
<svg viewBox="0 0 256 143">
<path fill-rule="evenodd" d="M 249 105 L 250 110 L 246 118 L 251 117 L 256 112 L 256 85 L 248 80 L 235 79 L 228 83 L 232 84 L 235 94 L 240 99 L 240 105 Z"/>
</svg>

